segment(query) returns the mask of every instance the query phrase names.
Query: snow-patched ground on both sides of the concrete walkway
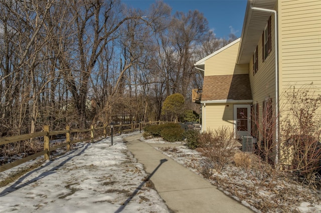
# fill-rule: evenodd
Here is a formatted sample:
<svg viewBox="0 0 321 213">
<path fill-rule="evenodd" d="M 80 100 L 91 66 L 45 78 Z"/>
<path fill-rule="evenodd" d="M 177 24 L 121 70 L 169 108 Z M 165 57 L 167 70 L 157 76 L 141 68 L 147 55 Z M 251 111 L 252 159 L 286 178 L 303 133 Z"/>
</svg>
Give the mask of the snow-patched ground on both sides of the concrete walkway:
<svg viewBox="0 0 321 213">
<path fill-rule="evenodd" d="M 80 142 L 71 151 L 59 150 L 51 161 L 41 157 L 0 173 L 10 176 L 35 162 L 42 166 L 0 188 L 0 212 L 170 212 L 147 174 L 123 143 L 114 136 L 95 143 Z M 161 138 L 141 139 L 167 143 Z M 249 169 L 228 163 L 219 174 L 215 169 L 204 172 L 206 160 L 184 142 L 177 147 L 156 148 L 200 175 L 206 176 L 226 194 L 240 200 L 256 212 L 321 212 L 320 191 L 293 181 L 282 173 L 264 184 L 257 175 L 259 164 Z M 59 155 L 60 154 L 60 155 Z M 284 175 L 285 174 L 285 175 Z"/>
</svg>

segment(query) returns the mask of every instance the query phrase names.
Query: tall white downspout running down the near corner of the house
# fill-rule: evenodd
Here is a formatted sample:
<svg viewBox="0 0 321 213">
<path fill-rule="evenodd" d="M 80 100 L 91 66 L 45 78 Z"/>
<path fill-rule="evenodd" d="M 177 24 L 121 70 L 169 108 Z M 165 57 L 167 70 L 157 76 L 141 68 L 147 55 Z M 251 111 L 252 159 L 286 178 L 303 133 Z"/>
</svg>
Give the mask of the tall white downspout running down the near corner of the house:
<svg viewBox="0 0 321 213">
<path fill-rule="evenodd" d="M 277 13 L 274 9 L 265 9 L 259 7 L 251 7 L 254 10 L 260 10 L 265 12 L 273 12 L 275 17 L 275 24 L 274 24 L 274 33 L 275 33 L 275 160 L 274 164 L 277 165 L 279 160 L 279 70 L 278 70 L 278 30 L 277 30 Z"/>
</svg>

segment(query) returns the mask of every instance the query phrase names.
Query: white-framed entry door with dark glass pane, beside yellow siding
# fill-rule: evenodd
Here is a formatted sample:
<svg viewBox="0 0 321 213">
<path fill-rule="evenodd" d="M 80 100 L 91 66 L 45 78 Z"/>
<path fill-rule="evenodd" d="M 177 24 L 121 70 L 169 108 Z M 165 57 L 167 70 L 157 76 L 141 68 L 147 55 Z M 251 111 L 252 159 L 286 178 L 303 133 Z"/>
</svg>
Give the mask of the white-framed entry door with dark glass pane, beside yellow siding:
<svg viewBox="0 0 321 213">
<path fill-rule="evenodd" d="M 234 104 L 233 120 L 236 138 L 251 135 L 251 106 L 249 104 Z"/>
</svg>

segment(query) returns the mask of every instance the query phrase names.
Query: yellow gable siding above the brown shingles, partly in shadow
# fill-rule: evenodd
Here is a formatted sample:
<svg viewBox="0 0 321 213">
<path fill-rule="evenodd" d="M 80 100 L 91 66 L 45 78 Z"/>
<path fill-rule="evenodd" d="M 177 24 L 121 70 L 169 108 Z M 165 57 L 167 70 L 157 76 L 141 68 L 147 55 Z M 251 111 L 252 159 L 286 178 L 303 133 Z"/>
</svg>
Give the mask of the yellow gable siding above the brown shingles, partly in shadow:
<svg viewBox="0 0 321 213">
<path fill-rule="evenodd" d="M 247 74 L 248 66 L 246 64 L 236 65 L 239 45 L 240 42 L 237 42 L 207 59 L 204 75 Z"/>
</svg>

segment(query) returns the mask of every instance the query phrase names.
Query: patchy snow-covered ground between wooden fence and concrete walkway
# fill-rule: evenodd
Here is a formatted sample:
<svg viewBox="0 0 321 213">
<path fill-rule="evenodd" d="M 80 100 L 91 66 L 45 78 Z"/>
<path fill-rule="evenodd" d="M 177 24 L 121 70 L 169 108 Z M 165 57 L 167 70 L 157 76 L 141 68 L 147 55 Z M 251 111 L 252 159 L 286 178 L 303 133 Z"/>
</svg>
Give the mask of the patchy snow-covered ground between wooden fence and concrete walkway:
<svg viewBox="0 0 321 213">
<path fill-rule="evenodd" d="M 169 212 L 122 142 L 128 135 L 114 136 L 113 146 L 110 138 L 79 142 L 44 161 L 0 188 L 0 212 Z M 0 178 L 35 161 L 2 172 Z"/>
</svg>

